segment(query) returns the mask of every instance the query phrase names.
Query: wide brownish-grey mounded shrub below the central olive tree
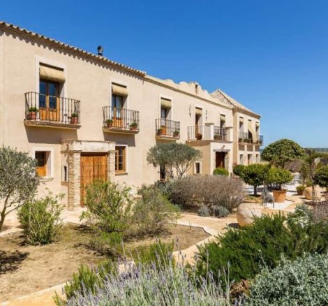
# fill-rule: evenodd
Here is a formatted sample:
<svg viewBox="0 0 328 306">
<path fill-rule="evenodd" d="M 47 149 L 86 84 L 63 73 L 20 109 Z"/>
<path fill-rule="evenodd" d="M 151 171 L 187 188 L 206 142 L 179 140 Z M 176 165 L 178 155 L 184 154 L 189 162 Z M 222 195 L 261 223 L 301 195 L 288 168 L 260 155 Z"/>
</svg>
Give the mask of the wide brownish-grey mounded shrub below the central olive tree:
<svg viewBox="0 0 328 306">
<path fill-rule="evenodd" d="M 187 176 L 177 180 L 170 192 L 172 202 L 181 207 L 221 205 L 230 212 L 244 198 L 241 180 L 223 175 Z"/>
</svg>

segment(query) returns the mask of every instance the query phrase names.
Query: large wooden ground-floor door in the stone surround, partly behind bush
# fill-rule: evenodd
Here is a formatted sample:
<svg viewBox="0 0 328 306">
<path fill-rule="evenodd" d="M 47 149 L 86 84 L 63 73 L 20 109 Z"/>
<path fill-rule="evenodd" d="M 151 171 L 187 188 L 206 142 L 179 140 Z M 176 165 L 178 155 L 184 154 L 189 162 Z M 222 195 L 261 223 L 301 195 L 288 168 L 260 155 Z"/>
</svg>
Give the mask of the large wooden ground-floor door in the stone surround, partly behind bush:
<svg viewBox="0 0 328 306">
<path fill-rule="evenodd" d="M 95 180 L 107 180 L 107 154 L 81 154 L 81 206 L 87 187 Z"/>
</svg>

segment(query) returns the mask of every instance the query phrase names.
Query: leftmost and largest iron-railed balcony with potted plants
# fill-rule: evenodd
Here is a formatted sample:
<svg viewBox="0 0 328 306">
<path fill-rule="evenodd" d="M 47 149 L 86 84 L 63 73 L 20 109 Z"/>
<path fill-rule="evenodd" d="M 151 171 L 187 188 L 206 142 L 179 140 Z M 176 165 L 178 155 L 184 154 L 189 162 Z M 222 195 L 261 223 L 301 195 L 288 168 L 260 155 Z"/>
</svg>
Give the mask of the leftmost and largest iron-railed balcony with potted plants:
<svg viewBox="0 0 328 306">
<path fill-rule="evenodd" d="M 38 92 L 25 93 L 26 126 L 80 128 L 80 101 Z"/>
</svg>

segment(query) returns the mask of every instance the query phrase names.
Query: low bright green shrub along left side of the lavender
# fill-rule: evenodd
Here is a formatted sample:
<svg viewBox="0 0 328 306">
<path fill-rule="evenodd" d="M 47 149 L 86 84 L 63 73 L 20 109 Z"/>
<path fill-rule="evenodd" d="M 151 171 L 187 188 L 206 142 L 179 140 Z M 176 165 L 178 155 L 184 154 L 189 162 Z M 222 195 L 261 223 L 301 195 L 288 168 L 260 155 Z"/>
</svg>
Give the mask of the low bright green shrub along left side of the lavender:
<svg viewBox="0 0 328 306">
<path fill-rule="evenodd" d="M 81 265 L 77 273 L 73 273 L 73 279 L 64 286 L 64 294 L 67 299 L 74 298 L 78 294 L 95 293 L 96 289 L 103 288 L 103 282 L 107 275 L 117 274 L 117 264 L 112 261 L 99 263 L 96 268 Z M 57 294 L 54 297 L 57 305 L 66 305 L 66 301 Z"/>
</svg>

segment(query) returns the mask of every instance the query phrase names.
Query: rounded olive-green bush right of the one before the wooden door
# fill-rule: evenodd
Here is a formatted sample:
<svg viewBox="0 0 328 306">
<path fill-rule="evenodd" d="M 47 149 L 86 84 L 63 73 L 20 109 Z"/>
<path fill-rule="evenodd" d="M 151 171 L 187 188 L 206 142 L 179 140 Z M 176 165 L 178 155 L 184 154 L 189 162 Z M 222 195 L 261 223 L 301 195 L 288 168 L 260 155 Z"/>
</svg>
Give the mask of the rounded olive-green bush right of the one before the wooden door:
<svg viewBox="0 0 328 306">
<path fill-rule="evenodd" d="M 177 221 L 179 208 L 170 201 L 156 187 L 142 187 L 139 193 L 142 199 L 133 207 L 134 222 L 138 234 L 156 235 L 167 230 L 167 224 Z"/>
</svg>

